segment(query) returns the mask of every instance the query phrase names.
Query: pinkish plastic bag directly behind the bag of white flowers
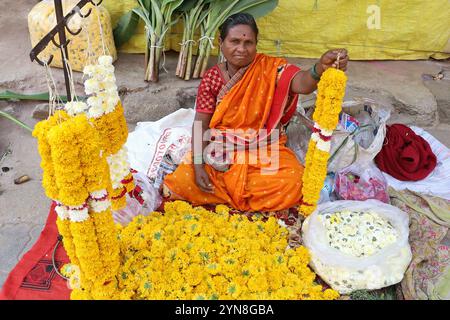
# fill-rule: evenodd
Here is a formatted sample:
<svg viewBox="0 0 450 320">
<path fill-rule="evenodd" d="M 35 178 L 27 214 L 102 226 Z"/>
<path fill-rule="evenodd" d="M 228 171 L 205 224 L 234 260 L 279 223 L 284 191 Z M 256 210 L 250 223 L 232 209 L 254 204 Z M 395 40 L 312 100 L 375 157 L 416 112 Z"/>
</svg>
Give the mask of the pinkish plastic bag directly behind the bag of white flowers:
<svg viewBox="0 0 450 320">
<path fill-rule="evenodd" d="M 335 191 L 339 199 L 377 199 L 389 203 L 388 184 L 373 162 L 356 162 L 336 175 Z"/>
</svg>

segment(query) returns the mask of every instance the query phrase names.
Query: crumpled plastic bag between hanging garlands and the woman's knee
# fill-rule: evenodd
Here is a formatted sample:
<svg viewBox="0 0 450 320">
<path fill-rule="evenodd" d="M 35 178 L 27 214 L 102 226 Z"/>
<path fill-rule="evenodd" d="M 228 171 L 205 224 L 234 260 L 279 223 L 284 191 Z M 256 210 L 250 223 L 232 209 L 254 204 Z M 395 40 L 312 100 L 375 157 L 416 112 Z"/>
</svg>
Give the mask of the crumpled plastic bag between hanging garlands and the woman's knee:
<svg viewBox="0 0 450 320">
<path fill-rule="evenodd" d="M 136 188 L 127 194 L 127 205 L 124 209 L 114 211 L 114 222 L 126 226 L 134 217 L 147 216 L 159 208 L 162 197 L 147 176 L 143 173 L 133 173 Z"/>
</svg>

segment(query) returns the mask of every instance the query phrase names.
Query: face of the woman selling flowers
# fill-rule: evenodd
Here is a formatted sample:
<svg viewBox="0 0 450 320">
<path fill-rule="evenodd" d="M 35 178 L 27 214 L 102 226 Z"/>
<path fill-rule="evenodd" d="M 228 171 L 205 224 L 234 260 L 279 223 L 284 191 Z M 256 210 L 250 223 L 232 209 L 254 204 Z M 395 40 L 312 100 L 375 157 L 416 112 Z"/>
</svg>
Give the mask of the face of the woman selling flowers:
<svg viewBox="0 0 450 320">
<path fill-rule="evenodd" d="M 248 25 L 239 24 L 230 28 L 220 44 L 225 59 L 234 67 L 246 67 L 256 57 L 256 34 Z"/>
</svg>

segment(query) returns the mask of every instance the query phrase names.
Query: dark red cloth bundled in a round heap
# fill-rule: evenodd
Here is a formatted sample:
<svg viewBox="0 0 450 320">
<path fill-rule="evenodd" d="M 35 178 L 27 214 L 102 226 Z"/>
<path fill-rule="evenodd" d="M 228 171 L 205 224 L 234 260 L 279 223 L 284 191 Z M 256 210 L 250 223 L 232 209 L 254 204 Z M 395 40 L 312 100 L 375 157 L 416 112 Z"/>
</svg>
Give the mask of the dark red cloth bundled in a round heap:
<svg viewBox="0 0 450 320">
<path fill-rule="evenodd" d="M 375 157 L 380 170 L 401 181 L 425 179 L 436 167 L 436 156 L 428 142 L 409 127 L 387 127 L 386 139 Z"/>
</svg>

